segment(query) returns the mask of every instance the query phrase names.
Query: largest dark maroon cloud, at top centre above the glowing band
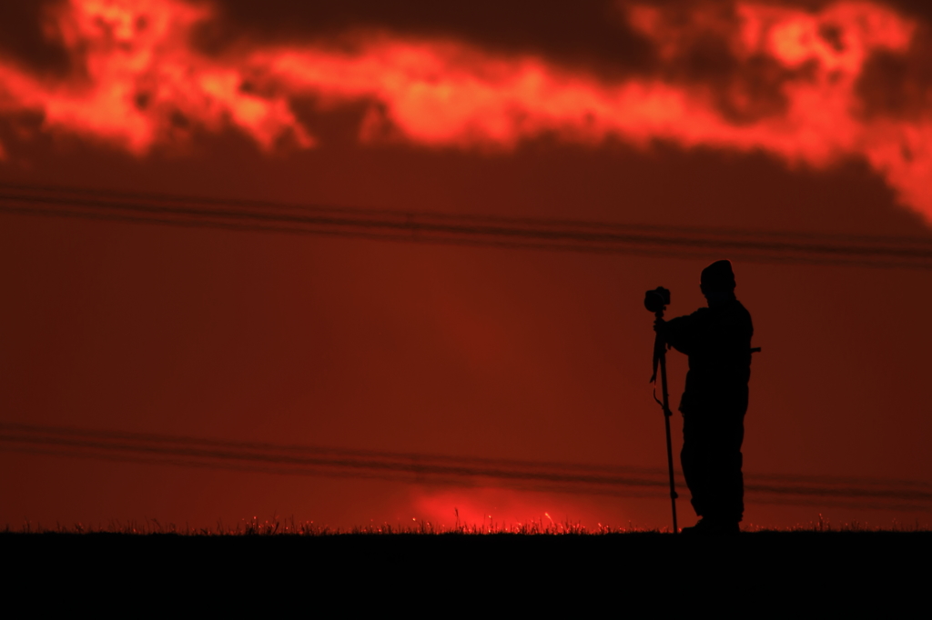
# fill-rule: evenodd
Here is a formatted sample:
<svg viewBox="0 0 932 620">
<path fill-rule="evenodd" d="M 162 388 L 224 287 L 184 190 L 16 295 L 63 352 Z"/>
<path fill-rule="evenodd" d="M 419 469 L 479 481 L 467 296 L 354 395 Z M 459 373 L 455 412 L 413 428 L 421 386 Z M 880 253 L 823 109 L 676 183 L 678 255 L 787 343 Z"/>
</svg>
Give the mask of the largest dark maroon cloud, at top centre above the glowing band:
<svg viewBox="0 0 932 620">
<path fill-rule="evenodd" d="M 583 0 L 571 6 L 532 0 L 225 0 L 219 7 L 222 20 L 205 24 L 199 34 L 199 42 L 208 49 L 223 47 L 242 36 L 272 42 L 353 29 L 387 29 L 452 36 L 495 50 L 540 53 L 596 68 L 630 70 L 651 62 L 650 44 L 626 25 L 617 4 L 607 0 Z"/>
</svg>

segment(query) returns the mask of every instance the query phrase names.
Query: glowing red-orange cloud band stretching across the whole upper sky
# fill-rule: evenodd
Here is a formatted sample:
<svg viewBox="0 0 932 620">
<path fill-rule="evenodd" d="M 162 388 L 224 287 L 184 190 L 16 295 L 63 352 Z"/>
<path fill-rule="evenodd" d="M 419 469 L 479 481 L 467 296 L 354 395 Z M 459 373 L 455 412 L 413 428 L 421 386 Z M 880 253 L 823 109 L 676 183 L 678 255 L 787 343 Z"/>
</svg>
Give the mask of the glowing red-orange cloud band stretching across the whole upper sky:
<svg viewBox="0 0 932 620">
<path fill-rule="evenodd" d="M 35 111 L 49 131 L 136 155 L 195 128 L 238 128 L 267 151 L 282 139 L 311 148 L 316 142 L 294 112 L 295 98 L 309 97 L 322 107 L 369 101 L 362 142 L 507 150 L 549 133 L 567 142 L 760 150 L 813 167 L 860 157 L 904 205 L 932 220 L 932 104 L 911 118 L 869 115 L 857 94 L 870 56 L 906 53 L 916 24 L 870 2 L 816 12 L 733 8 L 727 19 L 711 5 L 685 21 L 657 7 L 626 16 L 662 60 L 675 62 L 695 34 L 712 34 L 739 63 L 769 62 L 782 75 L 774 82 L 780 101 L 764 112 L 739 82 L 724 92 L 660 76 L 610 82 L 539 57 L 391 33 L 353 34 L 338 47 L 244 42 L 210 56 L 191 35 L 213 19 L 212 9 L 177 0 L 71 0 L 50 17 L 49 35 L 79 70 L 55 79 L 0 61 L 0 112 Z"/>
</svg>

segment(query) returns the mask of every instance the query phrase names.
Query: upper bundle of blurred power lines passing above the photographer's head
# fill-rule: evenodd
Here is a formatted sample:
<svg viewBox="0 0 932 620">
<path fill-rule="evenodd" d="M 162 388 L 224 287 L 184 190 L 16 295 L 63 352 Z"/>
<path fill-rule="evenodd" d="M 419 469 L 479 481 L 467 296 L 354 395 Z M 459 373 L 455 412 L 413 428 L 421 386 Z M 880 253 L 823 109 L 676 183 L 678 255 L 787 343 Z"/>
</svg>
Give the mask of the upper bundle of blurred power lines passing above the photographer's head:
<svg viewBox="0 0 932 620">
<path fill-rule="evenodd" d="M 407 243 L 932 269 L 932 237 L 480 217 L 2 183 L 0 212 Z"/>
</svg>

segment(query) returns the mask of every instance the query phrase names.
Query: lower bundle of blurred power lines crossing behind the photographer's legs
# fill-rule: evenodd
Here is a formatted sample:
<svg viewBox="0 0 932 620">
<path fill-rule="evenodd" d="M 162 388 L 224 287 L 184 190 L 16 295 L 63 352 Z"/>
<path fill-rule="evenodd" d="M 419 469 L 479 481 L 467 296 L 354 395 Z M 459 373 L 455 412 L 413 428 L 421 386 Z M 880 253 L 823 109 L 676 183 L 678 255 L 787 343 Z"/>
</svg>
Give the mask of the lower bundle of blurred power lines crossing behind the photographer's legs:
<svg viewBox="0 0 932 620">
<path fill-rule="evenodd" d="M 661 468 L 340 450 L 11 423 L 0 423 L 0 450 L 275 475 L 484 484 L 587 495 L 663 497 L 667 484 Z M 747 492 L 761 503 L 932 509 L 928 482 L 761 474 L 746 478 Z"/>
</svg>

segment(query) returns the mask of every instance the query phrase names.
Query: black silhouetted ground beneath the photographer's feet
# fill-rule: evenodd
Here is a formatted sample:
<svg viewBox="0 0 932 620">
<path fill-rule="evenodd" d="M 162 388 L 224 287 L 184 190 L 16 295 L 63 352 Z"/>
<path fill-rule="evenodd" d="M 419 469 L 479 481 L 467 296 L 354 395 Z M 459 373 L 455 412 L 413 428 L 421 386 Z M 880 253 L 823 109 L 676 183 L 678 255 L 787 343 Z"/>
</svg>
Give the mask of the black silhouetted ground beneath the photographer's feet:
<svg viewBox="0 0 932 620">
<path fill-rule="evenodd" d="M 462 605 L 522 616 L 552 605 L 573 617 L 604 615 L 606 606 L 666 616 L 671 605 L 716 616 L 834 616 L 869 608 L 871 615 L 899 615 L 927 604 L 930 558 L 926 531 L 733 538 L 0 532 L 7 600 L 39 584 L 44 594 L 30 600 L 75 600 L 62 594 L 68 588 L 94 604 L 117 596 L 170 609 L 195 604 L 179 602 L 183 595 L 207 607 L 258 598 L 267 613 L 285 600 L 303 601 L 308 610 L 328 600 L 345 613 L 326 615 L 341 617 L 360 606 L 458 615 Z"/>
</svg>

